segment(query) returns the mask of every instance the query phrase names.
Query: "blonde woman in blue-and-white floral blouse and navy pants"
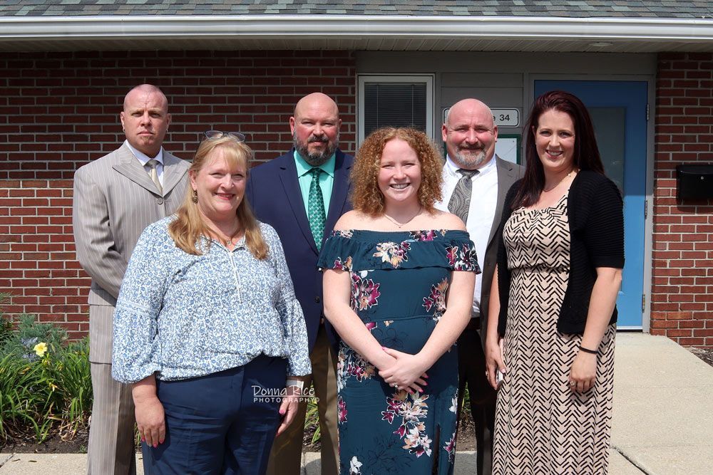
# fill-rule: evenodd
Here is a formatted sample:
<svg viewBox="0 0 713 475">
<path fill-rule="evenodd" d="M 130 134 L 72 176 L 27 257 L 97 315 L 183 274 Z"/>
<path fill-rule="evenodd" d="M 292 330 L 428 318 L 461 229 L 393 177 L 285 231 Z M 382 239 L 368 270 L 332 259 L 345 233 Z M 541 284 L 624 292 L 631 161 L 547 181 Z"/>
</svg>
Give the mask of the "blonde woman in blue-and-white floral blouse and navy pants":
<svg viewBox="0 0 713 475">
<path fill-rule="evenodd" d="M 148 226 L 114 314 L 146 474 L 261 474 L 310 372 L 277 233 L 244 199 L 252 152 L 206 132 L 177 214 Z"/>
</svg>

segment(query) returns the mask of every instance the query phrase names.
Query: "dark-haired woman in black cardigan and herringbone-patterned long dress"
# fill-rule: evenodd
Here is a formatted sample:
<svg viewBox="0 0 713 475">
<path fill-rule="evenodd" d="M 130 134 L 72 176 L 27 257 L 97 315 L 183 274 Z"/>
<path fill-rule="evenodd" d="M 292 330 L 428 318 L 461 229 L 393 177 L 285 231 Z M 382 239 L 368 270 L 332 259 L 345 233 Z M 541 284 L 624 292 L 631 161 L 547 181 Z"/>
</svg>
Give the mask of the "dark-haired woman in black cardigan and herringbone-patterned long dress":
<svg viewBox="0 0 713 475">
<path fill-rule="evenodd" d="M 498 387 L 493 474 L 606 474 L 622 198 L 583 103 L 535 100 L 527 170 L 506 197 L 491 288 L 488 379 Z"/>
</svg>

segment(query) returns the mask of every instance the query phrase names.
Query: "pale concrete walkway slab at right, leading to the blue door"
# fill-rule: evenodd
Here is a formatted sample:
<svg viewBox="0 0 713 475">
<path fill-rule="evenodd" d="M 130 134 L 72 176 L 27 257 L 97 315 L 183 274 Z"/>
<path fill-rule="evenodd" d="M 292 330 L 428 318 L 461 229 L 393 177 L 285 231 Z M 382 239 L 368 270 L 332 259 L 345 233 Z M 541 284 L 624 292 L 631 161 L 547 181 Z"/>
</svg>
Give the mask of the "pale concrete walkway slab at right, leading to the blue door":
<svg viewBox="0 0 713 475">
<path fill-rule="evenodd" d="M 617 335 L 612 449 L 645 474 L 713 473 L 713 367 L 668 338 Z"/>
</svg>

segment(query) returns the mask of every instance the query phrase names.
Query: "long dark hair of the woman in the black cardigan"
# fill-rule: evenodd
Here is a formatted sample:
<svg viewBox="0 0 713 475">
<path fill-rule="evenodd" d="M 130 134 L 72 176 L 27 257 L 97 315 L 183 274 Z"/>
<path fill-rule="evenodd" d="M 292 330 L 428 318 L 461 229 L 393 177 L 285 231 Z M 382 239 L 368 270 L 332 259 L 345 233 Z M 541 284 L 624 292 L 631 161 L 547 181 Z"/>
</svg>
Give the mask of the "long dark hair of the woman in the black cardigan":
<svg viewBox="0 0 713 475">
<path fill-rule="evenodd" d="M 604 174 L 602 158 L 599 155 L 597 139 L 594 135 L 592 118 L 582 101 L 563 90 L 550 90 L 535 99 L 530 116 L 525 123 L 525 160 L 527 169 L 520 189 L 513 200 L 513 209 L 529 207 L 538 202 L 545 187 L 545 170 L 535 146 L 535 132 L 540 125 L 540 115 L 548 110 L 558 110 L 572 118 L 575 127 L 575 150 L 573 165 L 580 170 L 592 170 Z"/>
</svg>

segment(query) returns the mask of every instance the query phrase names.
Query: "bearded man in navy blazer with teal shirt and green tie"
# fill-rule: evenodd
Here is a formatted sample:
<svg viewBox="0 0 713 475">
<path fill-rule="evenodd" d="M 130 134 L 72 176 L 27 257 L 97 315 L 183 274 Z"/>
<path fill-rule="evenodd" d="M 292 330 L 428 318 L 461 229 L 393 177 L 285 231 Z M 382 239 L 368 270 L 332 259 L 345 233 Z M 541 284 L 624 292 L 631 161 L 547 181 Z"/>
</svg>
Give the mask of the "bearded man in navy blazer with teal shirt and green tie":
<svg viewBox="0 0 713 475">
<path fill-rule="evenodd" d="M 252 169 L 245 191 L 257 219 L 279 234 L 294 292 L 304 310 L 312 382 L 319 398 L 323 475 L 339 473 L 337 357 L 332 349 L 335 335 L 324 322 L 322 273 L 316 263 L 337 219 L 352 209 L 348 194 L 354 157 L 338 148 L 341 125 L 332 98 L 322 93 L 304 96 L 289 118 L 294 147 Z M 306 409 L 307 404 L 302 402 L 292 424 L 275 439 L 267 474 L 299 475 Z"/>
</svg>

